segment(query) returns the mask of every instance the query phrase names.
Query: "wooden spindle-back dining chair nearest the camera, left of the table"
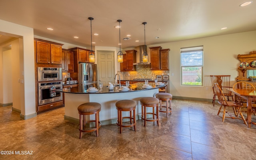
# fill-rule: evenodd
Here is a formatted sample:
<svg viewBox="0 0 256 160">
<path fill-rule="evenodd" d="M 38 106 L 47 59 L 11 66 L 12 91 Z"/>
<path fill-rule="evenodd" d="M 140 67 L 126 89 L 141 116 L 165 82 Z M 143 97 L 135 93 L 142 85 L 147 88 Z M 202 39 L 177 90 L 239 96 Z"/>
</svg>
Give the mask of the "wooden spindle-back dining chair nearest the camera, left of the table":
<svg viewBox="0 0 256 160">
<path fill-rule="evenodd" d="M 220 114 L 220 111 L 222 109 L 222 106 L 224 106 L 223 109 L 223 116 L 222 116 L 222 122 L 224 122 L 225 117 L 226 118 L 232 118 L 232 119 L 240 119 L 244 121 L 244 124 L 246 124 L 247 126 L 247 122 L 244 119 L 244 116 L 241 112 L 241 107 L 244 107 L 242 104 L 238 104 L 235 101 L 227 101 L 225 98 L 225 94 L 222 92 L 220 86 L 215 83 L 214 84 L 214 89 L 216 90 L 217 96 L 218 96 L 218 103 L 221 105 L 220 109 L 218 110 L 218 114 Z M 229 112 L 226 111 L 226 107 L 232 107 L 235 116 L 232 116 L 232 114 L 230 114 Z M 229 116 L 226 116 L 225 114 L 228 114 Z M 238 114 L 238 116 L 236 116 Z M 241 118 L 239 118 L 239 115 L 241 116 Z"/>
</svg>

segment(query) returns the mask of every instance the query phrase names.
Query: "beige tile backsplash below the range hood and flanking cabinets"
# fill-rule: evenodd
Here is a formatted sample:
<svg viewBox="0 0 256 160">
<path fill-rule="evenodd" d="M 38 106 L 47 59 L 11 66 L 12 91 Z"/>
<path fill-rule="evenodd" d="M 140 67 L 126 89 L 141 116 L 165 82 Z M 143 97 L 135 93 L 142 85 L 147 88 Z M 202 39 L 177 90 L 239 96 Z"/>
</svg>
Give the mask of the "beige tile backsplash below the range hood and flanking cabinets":
<svg viewBox="0 0 256 160">
<path fill-rule="evenodd" d="M 150 64 L 136 65 L 137 71 L 120 72 L 121 80 L 133 80 L 138 78 L 152 79 L 156 78 L 157 75 L 169 75 L 168 70 L 151 70 Z"/>
</svg>

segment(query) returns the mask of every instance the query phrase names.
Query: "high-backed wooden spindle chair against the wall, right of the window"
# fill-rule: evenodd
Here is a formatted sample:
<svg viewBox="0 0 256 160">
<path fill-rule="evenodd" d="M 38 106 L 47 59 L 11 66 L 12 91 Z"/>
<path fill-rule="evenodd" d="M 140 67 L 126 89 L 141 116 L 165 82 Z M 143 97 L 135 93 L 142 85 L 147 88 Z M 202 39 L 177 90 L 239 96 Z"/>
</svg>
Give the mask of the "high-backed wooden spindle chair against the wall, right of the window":
<svg viewBox="0 0 256 160">
<path fill-rule="evenodd" d="M 213 98 L 212 98 L 212 103 L 213 106 L 215 104 L 215 99 L 217 96 L 217 92 L 214 89 L 214 84 L 217 83 L 223 94 L 228 98 L 228 101 L 230 101 L 229 97 L 232 98 L 232 101 L 234 101 L 233 95 L 230 91 L 226 90 L 227 88 L 231 88 L 230 87 L 230 75 L 210 75 L 211 78 L 211 82 L 212 82 L 212 91 L 213 91 Z"/>
</svg>

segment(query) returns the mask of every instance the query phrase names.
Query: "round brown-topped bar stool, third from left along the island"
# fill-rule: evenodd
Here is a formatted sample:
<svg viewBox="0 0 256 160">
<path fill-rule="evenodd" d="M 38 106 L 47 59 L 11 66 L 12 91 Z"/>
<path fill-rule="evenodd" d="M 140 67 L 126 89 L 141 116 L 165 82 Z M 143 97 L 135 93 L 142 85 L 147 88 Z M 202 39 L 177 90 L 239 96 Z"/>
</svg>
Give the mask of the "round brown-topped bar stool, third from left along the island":
<svg viewBox="0 0 256 160">
<path fill-rule="evenodd" d="M 141 104 L 141 119 L 144 120 L 144 126 L 146 127 L 146 121 L 149 122 L 157 122 L 157 125 L 159 126 L 158 123 L 158 104 L 159 104 L 159 100 L 157 98 L 154 97 L 144 97 L 140 99 L 140 104 Z M 146 107 L 152 107 L 153 112 L 146 112 Z M 156 113 L 155 113 L 155 107 L 156 107 Z M 152 114 L 153 115 L 153 119 L 149 119 L 147 118 L 147 114 Z M 156 119 L 155 119 L 156 116 Z"/>
</svg>

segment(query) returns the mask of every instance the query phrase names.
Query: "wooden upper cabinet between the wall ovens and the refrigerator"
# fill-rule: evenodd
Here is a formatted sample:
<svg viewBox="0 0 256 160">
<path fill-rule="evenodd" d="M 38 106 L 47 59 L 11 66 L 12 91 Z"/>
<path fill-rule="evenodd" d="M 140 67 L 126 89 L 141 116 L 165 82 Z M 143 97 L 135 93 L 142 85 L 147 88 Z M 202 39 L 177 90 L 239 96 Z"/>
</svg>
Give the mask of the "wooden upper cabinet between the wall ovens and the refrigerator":
<svg viewBox="0 0 256 160">
<path fill-rule="evenodd" d="M 62 49 L 62 72 L 74 72 L 74 51 Z"/>
</svg>

